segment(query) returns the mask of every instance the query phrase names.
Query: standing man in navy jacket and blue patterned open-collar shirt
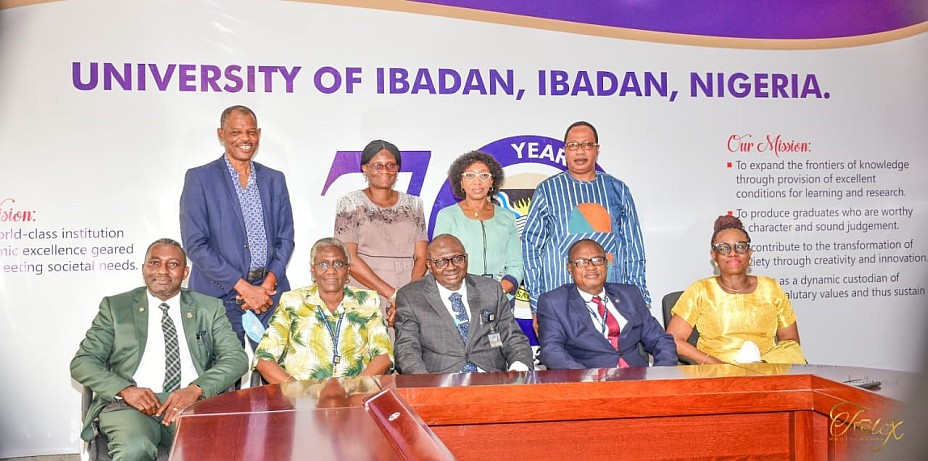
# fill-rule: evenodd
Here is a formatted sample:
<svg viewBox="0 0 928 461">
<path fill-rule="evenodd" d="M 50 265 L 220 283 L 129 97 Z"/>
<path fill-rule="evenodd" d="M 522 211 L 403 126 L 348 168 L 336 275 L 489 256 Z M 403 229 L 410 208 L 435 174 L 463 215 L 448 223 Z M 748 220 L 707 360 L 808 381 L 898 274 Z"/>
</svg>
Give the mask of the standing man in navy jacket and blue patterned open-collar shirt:
<svg viewBox="0 0 928 461">
<path fill-rule="evenodd" d="M 223 156 L 184 178 L 180 231 L 193 262 L 190 289 L 222 299 L 244 345 L 245 311 L 266 327 L 290 290 L 293 211 L 283 173 L 252 161 L 261 138 L 255 113 L 227 108 L 217 133 Z"/>
</svg>

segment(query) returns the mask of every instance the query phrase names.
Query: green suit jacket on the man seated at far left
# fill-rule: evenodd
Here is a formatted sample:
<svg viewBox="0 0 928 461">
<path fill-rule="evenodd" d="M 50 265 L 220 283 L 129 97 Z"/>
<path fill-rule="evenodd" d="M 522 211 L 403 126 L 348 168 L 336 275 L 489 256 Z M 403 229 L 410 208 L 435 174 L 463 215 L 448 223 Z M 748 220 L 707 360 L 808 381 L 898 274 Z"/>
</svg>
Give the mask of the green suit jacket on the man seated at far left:
<svg viewBox="0 0 928 461">
<path fill-rule="evenodd" d="M 132 377 L 139 367 L 148 342 L 146 287 L 107 296 L 87 330 L 74 358 L 71 377 L 94 392 L 84 420 L 81 438 L 93 439 L 90 423 L 103 408 L 115 401 L 116 394 L 134 386 Z M 199 377 L 191 383 L 203 389 L 203 398 L 214 396 L 240 379 L 248 359 L 226 318 L 225 307 L 216 298 L 180 292 L 183 332 Z"/>
</svg>

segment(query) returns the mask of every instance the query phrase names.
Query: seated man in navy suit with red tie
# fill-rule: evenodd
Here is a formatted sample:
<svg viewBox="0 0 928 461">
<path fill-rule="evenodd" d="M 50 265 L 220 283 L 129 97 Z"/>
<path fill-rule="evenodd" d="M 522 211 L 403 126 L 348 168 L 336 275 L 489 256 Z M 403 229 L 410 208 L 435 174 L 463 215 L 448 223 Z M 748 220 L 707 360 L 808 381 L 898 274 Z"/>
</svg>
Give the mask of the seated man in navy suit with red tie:
<svg viewBox="0 0 928 461">
<path fill-rule="evenodd" d="M 549 369 L 676 365 L 673 337 L 664 332 L 635 285 L 606 283 L 606 253 L 593 240 L 579 240 L 568 251 L 574 283 L 538 299 L 541 361 Z"/>
</svg>

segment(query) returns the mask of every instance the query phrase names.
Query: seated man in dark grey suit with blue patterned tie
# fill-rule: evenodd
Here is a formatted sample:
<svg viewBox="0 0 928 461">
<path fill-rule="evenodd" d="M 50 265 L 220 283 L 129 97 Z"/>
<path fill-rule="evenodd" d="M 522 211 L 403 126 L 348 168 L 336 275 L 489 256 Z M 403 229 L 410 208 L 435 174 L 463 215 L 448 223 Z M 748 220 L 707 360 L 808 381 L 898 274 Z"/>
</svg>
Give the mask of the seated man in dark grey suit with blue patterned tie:
<svg viewBox="0 0 928 461">
<path fill-rule="evenodd" d="M 429 274 L 396 294 L 397 370 L 529 370 L 531 346 L 499 282 L 467 273 L 467 253 L 453 235 L 435 237 L 427 255 Z"/>
</svg>

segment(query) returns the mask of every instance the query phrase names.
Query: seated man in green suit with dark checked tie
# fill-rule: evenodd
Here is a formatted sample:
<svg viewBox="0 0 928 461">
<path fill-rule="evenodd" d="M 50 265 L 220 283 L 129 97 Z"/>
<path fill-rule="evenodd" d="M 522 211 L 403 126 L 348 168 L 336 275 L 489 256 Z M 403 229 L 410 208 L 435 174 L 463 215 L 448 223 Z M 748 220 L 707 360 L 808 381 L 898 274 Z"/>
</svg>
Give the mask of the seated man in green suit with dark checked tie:
<svg viewBox="0 0 928 461">
<path fill-rule="evenodd" d="M 146 286 L 103 298 L 71 360 L 71 377 L 94 392 L 81 438 L 93 439 L 99 416 L 113 459 L 155 459 L 184 407 L 222 392 L 248 367 L 222 301 L 181 289 L 188 273 L 179 243 L 152 243 Z"/>
</svg>

